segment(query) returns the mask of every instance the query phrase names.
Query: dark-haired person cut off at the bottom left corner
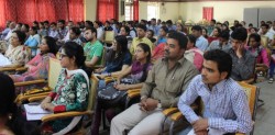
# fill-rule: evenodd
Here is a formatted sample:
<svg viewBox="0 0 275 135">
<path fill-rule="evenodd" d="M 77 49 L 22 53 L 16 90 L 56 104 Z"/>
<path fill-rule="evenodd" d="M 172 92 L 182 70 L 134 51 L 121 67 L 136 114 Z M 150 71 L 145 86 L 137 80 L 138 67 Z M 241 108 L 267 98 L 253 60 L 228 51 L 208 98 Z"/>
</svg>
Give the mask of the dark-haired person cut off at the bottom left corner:
<svg viewBox="0 0 275 135">
<path fill-rule="evenodd" d="M 0 72 L 0 135 L 14 135 L 11 128 L 11 121 L 13 121 L 16 112 L 16 106 L 13 103 L 15 99 L 14 85 L 9 76 Z M 10 116 L 12 114 L 12 120 Z"/>
</svg>

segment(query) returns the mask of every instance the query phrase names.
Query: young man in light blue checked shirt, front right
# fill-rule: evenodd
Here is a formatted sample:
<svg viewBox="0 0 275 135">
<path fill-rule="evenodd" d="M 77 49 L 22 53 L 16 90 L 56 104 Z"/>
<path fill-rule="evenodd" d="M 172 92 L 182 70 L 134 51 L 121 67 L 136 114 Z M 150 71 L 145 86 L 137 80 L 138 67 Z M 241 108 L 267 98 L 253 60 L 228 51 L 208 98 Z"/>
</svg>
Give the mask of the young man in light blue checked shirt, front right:
<svg viewBox="0 0 275 135">
<path fill-rule="evenodd" d="M 250 108 L 244 90 L 230 78 L 232 58 L 220 49 L 205 53 L 204 58 L 201 75 L 191 80 L 178 101 L 180 112 L 193 126 L 188 135 L 249 133 Z M 190 108 L 198 97 L 204 102 L 201 117 Z"/>
</svg>

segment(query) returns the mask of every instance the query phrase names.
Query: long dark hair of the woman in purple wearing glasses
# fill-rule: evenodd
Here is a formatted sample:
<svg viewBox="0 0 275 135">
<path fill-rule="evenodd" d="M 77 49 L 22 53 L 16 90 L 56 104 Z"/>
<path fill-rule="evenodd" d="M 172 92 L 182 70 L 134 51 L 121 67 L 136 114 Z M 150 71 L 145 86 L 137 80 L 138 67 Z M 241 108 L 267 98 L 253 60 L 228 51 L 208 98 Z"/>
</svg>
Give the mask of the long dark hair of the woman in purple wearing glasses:
<svg viewBox="0 0 275 135">
<path fill-rule="evenodd" d="M 142 49 L 143 49 L 143 52 L 144 53 L 148 53 L 148 55 L 147 55 L 147 57 L 146 57 L 146 63 L 144 64 L 144 66 L 143 66 L 143 74 L 142 74 L 142 77 L 141 77 L 141 79 L 140 79 L 140 81 L 141 82 L 143 82 L 143 81 L 145 81 L 146 80 L 146 78 L 147 78 L 147 68 L 148 68 L 148 66 L 150 66 L 150 64 L 151 64 L 151 56 L 152 56 L 152 54 L 151 54 L 151 48 L 150 48 L 150 46 L 147 45 L 147 44 L 145 44 L 145 43 L 140 43 L 139 45 L 138 45 L 139 47 L 141 47 Z"/>
</svg>

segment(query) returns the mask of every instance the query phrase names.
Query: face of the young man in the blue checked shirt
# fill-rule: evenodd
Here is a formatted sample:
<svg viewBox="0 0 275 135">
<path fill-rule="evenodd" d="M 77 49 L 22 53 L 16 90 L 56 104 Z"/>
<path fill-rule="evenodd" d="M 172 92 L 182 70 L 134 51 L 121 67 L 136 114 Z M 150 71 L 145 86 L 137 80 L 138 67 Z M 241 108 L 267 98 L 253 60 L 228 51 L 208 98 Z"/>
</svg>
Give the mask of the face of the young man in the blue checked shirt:
<svg viewBox="0 0 275 135">
<path fill-rule="evenodd" d="M 218 69 L 218 64 L 212 60 L 204 60 L 201 70 L 202 82 L 206 85 L 213 86 L 221 80 L 226 79 L 227 72 L 220 72 Z"/>
</svg>

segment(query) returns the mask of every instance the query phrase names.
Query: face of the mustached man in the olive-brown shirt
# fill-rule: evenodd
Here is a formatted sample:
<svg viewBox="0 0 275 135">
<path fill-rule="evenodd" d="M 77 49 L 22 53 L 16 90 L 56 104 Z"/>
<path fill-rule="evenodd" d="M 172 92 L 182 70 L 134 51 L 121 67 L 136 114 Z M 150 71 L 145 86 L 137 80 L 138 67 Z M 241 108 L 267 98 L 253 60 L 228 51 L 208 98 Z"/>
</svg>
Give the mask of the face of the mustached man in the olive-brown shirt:
<svg viewBox="0 0 275 135">
<path fill-rule="evenodd" d="M 164 47 L 164 57 L 167 59 L 178 59 L 183 56 L 185 50 L 179 47 L 178 41 L 174 38 L 167 38 L 167 43 Z"/>
</svg>

